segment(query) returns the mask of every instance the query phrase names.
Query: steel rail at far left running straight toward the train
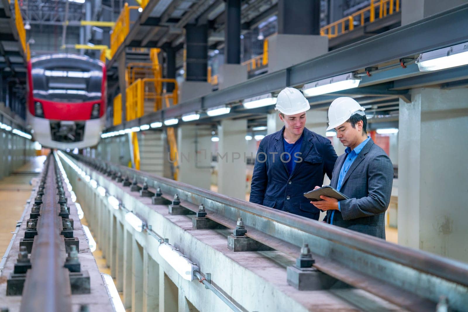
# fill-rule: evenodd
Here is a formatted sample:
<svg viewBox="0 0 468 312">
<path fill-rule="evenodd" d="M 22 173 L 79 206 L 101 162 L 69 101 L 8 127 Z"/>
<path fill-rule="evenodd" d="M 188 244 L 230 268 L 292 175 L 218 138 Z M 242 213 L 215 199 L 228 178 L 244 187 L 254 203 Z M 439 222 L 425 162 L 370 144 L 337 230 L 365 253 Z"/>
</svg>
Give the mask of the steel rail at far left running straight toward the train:
<svg viewBox="0 0 468 312">
<path fill-rule="evenodd" d="M 54 158 L 48 158 L 41 216 L 31 251 L 32 268 L 28 270 L 22 292 L 21 312 L 71 312 L 71 286 L 64 267 L 65 241 L 60 236 Z M 63 245 L 63 246 L 62 246 Z"/>
</svg>

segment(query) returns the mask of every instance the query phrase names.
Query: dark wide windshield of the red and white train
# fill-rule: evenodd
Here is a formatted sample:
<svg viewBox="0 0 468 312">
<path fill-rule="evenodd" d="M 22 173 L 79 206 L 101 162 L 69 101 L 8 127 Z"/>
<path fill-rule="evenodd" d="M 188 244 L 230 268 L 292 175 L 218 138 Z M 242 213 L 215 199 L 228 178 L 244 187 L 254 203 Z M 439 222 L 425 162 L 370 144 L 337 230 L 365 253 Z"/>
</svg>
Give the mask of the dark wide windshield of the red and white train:
<svg viewBox="0 0 468 312">
<path fill-rule="evenodd" d="M 72 62 L 73 64 L 70 64 Z M 31 62 L 34 98 L 80 103 L 101 100 L 102 66 L 81 58 L 44 58 Z"/>
</svg>

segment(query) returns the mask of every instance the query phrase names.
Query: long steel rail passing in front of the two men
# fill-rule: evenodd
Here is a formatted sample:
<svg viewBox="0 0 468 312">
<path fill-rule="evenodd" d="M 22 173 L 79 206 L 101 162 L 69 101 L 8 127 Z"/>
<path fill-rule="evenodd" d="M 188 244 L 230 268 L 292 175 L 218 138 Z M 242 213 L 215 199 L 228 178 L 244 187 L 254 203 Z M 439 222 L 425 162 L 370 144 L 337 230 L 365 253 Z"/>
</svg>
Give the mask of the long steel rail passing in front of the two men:
<svg viewBox="0 0 468 312">
<path fill-rule="evenodd" d="M 93 164 L 83 156 L 72 157 Z M 299 247 L 307 242 L 316 259 L 316 268 L 398 306 L 412 311 L 434 309 L 440 296 L 448 297 L 451 306 L 460 310 L 468 305 L 465 263 L 132 168 L 93 161 L 122 175 L 136 176 L 139 183 L 146 181 L 150 187 L 161 187 L 166 195 L 177 193 L 181 204 L 191 210 L 204 203 L 207 217 L 229 228 L 234 228 L 235 220 L 242 217 L 249 237 L 278 251 L 296 257 Z M 82 169 L 92 174 L 89 168 Z"/>
</svg>

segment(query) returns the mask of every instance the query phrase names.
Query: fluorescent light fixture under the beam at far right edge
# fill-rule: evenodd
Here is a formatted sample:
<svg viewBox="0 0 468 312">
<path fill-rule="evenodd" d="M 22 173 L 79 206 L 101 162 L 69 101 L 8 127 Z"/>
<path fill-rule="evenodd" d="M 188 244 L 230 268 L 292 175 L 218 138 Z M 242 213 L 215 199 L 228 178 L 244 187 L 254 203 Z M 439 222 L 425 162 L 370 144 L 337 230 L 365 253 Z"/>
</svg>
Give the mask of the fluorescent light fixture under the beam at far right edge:
<svg viewBox="0 0 468 312">
<path fill-rule="evenodd" d="M 431 72 L 468 64 L 468 43 L 424 52 L 416 59 L 420 72 Z"/>
</svg>

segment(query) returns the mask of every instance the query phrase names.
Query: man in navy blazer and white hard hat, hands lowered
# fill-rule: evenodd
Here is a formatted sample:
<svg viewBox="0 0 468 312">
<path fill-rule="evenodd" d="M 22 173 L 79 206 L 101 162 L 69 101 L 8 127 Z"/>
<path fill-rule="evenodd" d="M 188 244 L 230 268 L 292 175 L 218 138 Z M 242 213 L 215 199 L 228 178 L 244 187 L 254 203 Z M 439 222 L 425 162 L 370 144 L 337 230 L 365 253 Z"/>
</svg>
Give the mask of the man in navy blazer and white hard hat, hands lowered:
<svg viewBox="0 0 468 312">
<path fill-rule="evenodd" d="M 258 147 L 250 202 L 318 220 L 320 210 L 304 196 L 332 178 L 336 152 L 328 138 L 305 128 L 310 104 L 302 93 L 285 88 L 276 103 L 283 129 L 263 138 Z"/>
</svg>

